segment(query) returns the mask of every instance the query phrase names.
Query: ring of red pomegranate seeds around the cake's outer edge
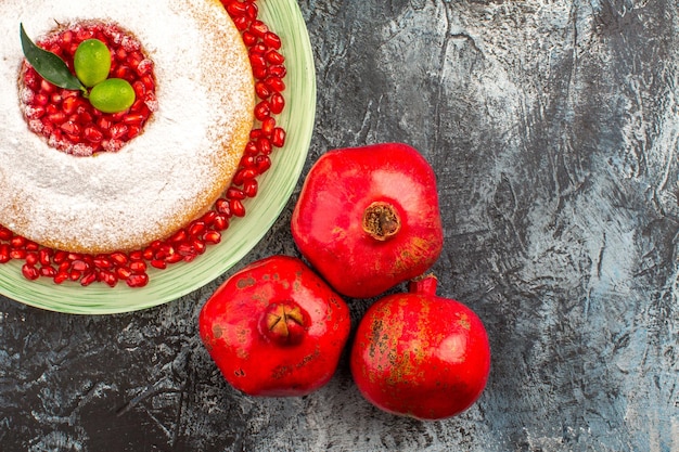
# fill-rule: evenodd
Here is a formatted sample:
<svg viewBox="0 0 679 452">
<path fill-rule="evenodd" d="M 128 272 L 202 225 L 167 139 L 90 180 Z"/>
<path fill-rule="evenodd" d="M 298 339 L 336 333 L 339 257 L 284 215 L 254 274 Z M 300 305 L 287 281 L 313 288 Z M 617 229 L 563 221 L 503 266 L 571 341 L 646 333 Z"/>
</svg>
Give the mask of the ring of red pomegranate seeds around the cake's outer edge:
<svg viewBox="0 0 679 452">
<path fill-rule="evenodd" d="M 221 233 L 233 217 L 245 216 L 243 201 L 257 195 L 257 177 L 271 167 L 273 148 L 285 143 L 285 130 L 277 125 L 274 117 L 285 106 L 282 95 L 285 90 L 285 59 L 279 52 L 280 38 L 257 18 L 255 0 L 222 0 L 222 3 L 249 50 L 258 98 L 255 106 L 257 125 L 251 132 L 231 186 L 223 196 L 203 217 L 171 237 L 129 253 L 91 256 L 55 250 L 15 235 L 0 225 L 0 263 L 13 259 L 25 261 L 22 273 L 28 280 L 51 277 L 56 284 L 72 281 L 82 286 L 100 282 L 111 287 L 124 281 L 130 287 L 143 287 L 149 283 L 149 267 L 165 269 L 171 263 L 192 261 L 205 253 L 208 245 L 221 241 Z"/>
</svg>

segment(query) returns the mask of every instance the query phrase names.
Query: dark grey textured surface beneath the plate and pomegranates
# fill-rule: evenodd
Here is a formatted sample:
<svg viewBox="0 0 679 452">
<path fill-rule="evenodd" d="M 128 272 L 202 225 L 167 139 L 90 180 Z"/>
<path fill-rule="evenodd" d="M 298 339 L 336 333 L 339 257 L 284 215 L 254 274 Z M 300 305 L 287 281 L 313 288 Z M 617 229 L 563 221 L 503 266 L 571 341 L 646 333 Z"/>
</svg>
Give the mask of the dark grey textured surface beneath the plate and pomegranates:
<svg viewBox="0 0 679 452">
<path fill-rule="evenodd" d="M 236 393 L 196 332 L 227 275 L 123 315 L 0 297 L 0 450 L 679 451 L 676 2 L 299 5 L 318 76 L 305 173 L 382 141 L 434 165 L 439 295 L 491 340 L 479 402 L 437 423 L 384 414 L 346 356 L 306 398 Z M 241 266 L 297 255 L 296 193 Z M 369 302 L 350 302 L 356 324 Z"/>
</svg>

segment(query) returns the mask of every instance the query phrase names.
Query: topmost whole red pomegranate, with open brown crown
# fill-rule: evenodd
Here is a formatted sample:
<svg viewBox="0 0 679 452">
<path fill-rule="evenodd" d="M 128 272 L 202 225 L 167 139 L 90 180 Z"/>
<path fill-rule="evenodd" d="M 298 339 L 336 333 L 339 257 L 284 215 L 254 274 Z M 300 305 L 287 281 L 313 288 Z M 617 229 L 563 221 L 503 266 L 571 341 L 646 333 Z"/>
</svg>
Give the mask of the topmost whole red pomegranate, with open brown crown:
<svg viewBox="0 0 679 452">
<path fill-rule="evenodd" d="M 377 296 L 423 274 L 441 253 L 434 170 L 402 143 L 329 151 L 305 179 L 291 229 L 335 290 Z"/>
</svg>

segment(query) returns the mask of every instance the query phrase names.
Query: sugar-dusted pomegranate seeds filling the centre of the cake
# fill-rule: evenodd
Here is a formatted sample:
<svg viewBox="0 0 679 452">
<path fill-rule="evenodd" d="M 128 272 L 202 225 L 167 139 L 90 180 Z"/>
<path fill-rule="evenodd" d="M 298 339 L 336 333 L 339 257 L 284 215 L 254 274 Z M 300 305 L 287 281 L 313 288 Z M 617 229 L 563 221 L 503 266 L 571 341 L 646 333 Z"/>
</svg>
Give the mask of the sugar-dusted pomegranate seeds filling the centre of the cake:
<svg viewBox="0 0 679 452">
<path fill-rule="evenodd" d="M 94 108 L 80 91 L 57 88 L 46 81 L 24 62 L 21 101 L 28 127 L 43 135 L 50 146 L 67 154 L 90 156 L 117 152 L 142 132 L 146 119 L 157 108 L 153 63 L 141 43 L 115 25 L 79 24 L 39 42 L 59 55 L 73 72 L 78 44 L 97 38 L 111 50 L 111 77 L 123 78 L 134 89 L 136 101 L 126 111 L 104 114 Z"/>
</svg>

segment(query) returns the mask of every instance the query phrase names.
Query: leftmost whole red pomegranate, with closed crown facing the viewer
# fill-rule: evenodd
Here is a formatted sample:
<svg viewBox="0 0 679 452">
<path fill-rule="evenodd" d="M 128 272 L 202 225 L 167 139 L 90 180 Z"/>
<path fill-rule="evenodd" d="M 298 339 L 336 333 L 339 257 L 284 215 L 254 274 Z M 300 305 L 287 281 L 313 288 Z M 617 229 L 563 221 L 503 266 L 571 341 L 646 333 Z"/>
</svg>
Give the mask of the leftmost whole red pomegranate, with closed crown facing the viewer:
<svg viewBox="0 0 679 452">
<path fill-rule="evenodd" d="M 349 330 L 344 300 L 302 260 L 286 256 L 233 274 L 198 317 L 201 339 L 223 377 L 251 396 L 305 396 L 325 385 Z"/>
</svg>

